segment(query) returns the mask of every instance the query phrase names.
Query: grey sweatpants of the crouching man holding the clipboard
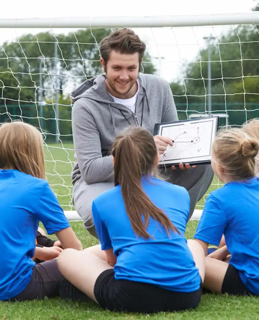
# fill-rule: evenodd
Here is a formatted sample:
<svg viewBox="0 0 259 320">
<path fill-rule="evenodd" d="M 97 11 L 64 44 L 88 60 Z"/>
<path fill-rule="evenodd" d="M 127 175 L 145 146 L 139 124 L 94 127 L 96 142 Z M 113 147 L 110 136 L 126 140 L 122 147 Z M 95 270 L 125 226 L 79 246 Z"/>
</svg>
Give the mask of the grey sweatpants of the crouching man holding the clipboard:
<svg viewBox="0 0 259 320">
<path fill-rule="evenodd" d="M 209 188 L 214 173 L 210 164 L 197 165 L 195 169 L 175 171 L 170 167 L 162 172 L 168 179 L 166 181 L 186 188 L 190 195 L 190 214 L 193 214 L 196 203 L 204 196 Z M 75 182 L 73 188 L 73 202 L 79 216 L 84 221 L 84 227 L 91 235 L 97 237 L 92 214 L 92 202 L 102 192 L 114 187 L 113 181 L 87 184 L 83 177 Z"/>
</svg>

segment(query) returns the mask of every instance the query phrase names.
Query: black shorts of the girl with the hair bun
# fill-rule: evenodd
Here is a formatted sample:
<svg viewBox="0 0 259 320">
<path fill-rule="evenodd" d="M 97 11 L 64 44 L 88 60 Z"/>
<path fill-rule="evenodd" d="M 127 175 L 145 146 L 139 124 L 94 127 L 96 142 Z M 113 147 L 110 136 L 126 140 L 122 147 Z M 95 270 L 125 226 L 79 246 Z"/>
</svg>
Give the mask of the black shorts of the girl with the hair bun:
<svg viewBox="0 0 259 320">
<path fill-rule="evenodd" d="M 222 293 L 228 293 L 237 296 L 256 296 L 257 294 L 250 291 L 242 282 L 239 271 L 232 264 L 229 264 L 227 272 L 224 276 L 222 288 Z"/>
</svg>

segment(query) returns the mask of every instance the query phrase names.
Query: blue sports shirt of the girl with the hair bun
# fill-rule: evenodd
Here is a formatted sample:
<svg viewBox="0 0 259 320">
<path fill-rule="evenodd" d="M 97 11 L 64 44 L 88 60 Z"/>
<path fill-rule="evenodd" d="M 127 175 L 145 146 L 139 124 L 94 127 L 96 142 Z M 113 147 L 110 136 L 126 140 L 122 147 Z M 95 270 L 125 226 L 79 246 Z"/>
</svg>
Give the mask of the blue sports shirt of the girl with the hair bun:
<svg viewBox="0 0 259 320">
<path fill-rule="evenodd" d="M 219 245 L 224 234 L 229 261 L 242 282 L 259 294 L 259 178 L 232 181 L 208 196 L 194 238 Z"/>
</svg>

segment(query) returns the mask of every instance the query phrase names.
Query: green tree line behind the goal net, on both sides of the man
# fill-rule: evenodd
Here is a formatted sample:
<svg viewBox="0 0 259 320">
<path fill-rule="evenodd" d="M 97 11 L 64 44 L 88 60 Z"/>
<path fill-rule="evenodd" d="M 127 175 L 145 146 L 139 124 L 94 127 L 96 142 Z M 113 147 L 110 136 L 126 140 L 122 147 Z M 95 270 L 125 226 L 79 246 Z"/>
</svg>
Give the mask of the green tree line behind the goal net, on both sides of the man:
<svg viewBox="0 0 259 320">
<path fill-rule="evenodd" d="M 44 100 L 41 125 L 45 132 L 53 132 L 58 92 L 60 132 L 70 135 L 72 105 L 64 89 L 102 73 L 98 43 L 109 33 L 109 28 L 79 29 L 56 36 L 41 32 L 0 45 L 0 122 L 23 117 L 39 126 L 39 102 Z M 182 80 L 169 84 L 179 118 L 207 110 L 208 45 L 213 110 L 224 113 L 227 109 L 230 124 L 242 124 L 247 118 L 259 116 L 259 30 L 256 25 L 247 25 L 233 27 L 216 38 L 214 44 L 207 44 L 197 53 L 195 62 L 184 64 Z M 142 71 L 156 73 L 149 52 L 144 61 Z"/>
</svg>

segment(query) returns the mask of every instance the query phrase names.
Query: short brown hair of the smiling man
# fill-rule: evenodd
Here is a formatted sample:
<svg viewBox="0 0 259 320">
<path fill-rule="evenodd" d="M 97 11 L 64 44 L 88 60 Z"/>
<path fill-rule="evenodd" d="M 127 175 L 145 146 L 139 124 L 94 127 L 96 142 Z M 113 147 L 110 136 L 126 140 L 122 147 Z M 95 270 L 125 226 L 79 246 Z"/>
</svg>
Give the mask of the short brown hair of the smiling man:
<svg viewBox="0 0 259 320">
<path fill-rule="evenodd" d="M 109 60 L 111 50 L 115 50 L 122 54 L 133 54 L 138 52 L 140 67 L 146 50 L 146 44 L 140 40 L 139 36 L 137 36 L 134 31 L 123 28 L 112 32 L 109 36 L 101 40 L 100 52 L 105 65 Z"/>
</svg>

